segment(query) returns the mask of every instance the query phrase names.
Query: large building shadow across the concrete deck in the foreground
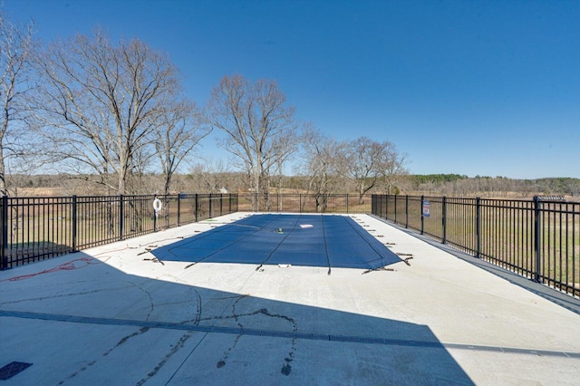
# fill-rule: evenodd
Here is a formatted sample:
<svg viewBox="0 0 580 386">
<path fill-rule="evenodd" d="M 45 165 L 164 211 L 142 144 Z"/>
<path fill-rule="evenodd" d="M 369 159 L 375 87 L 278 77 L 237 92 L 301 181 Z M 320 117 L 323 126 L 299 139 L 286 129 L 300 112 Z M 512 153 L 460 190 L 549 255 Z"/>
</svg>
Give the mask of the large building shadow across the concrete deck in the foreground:
<svg viewBox="0 0 580 386">
<path fill-rule="evenodd" d="M 0 366 L 34 364 L 11 381 L 473 384 L 426 325 L 188 285 L 181 266 L 143 261 L 151 278 L 102 260 L 76 253 L 0 273 Z"/>
</svg>

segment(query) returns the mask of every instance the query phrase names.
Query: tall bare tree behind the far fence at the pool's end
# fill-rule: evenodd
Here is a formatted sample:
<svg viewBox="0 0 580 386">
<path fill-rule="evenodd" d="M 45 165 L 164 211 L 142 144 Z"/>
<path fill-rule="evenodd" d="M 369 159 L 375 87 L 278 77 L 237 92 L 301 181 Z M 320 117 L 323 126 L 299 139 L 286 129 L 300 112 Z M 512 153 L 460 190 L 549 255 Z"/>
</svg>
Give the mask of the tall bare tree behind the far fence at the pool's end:
<svg viewBox="0 0 580 386">
<path fill-rule="evenodd" d="M 250 84 L 235 75 L 225 76 L 208 102 L 208 122 L 227 134 L 221 144 L 247 172 L 250 190 L 256 192 L 252 203 L 256 211 L 258 194 L 264 196 L 268 210 L 272 168 L 290 157 L 299 141 L 295 111 L 285 101 L 276 82 Z"/>
</svg>

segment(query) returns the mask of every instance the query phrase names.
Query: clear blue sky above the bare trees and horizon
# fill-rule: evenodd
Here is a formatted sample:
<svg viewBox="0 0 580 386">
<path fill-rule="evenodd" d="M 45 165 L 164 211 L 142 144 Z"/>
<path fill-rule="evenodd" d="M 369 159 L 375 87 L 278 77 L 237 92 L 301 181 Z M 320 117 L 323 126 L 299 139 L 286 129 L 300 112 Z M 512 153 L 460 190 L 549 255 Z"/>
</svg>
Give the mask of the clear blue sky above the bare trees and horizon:
<svg viewBox="0 0 580 386">
<path fill-rule="evenodd" d="M 580 1 L 0 4 L 45 41 L 139 37 L 199 105 L 226 74 L 275 79 L 299 120 L 390 140 L 414 174 L 580 178 Z"/>
</svg>

